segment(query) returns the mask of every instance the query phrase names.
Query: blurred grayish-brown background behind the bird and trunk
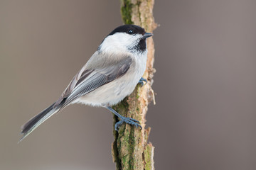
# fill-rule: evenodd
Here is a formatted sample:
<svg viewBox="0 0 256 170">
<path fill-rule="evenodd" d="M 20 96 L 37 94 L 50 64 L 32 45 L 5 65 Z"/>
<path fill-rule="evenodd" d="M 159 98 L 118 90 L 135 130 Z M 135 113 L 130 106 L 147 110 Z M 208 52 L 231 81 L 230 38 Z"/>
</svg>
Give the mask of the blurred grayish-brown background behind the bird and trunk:
<svg viewBox="0 0 256 170">
<path fill-rule="evenodd" d="M 256 169 L 256 1 L 156 1 L 156 169 Z M 112 114 L 69 106 L 17 145 L 103 38 L 119 1 L 0 0 L 0 169 L 114 169 Z"/>
</svg>

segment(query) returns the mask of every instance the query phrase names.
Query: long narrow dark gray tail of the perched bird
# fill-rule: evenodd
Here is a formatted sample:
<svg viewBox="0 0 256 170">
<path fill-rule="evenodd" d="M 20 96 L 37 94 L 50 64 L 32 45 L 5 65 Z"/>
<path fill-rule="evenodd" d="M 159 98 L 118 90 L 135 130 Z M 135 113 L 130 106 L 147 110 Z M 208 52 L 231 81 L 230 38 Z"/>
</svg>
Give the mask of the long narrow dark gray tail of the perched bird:
<svg viewBox="0 0 256 170">
<path fill-rule="evenodd" d="M 58 111 L 60 111 L 60 107 L 58 106 L 56 107 L 54 105 L 55 103 L 53 103 L 51 106 L 46 108 L 44 111 L 42 111 L 38 115 L 35 115 L 33 118 L 31 118 L 31 120 L 28 120 L 27 123 L 21 126 L 21 130 L 22 130 L 21 134 L 23 134 L 23 136 L 21 137 L 21 140 L 27 137 L 33 130 L 38 128 L 38 126 L 41 125 L 41 123 L 43 123 L 48 118 L 50 118 L 50 116 L 52 116 L 54 113 L 57 113 Z M 21 140 L 19 140 L 19 142 L 21 142 Z"/>
</svg>

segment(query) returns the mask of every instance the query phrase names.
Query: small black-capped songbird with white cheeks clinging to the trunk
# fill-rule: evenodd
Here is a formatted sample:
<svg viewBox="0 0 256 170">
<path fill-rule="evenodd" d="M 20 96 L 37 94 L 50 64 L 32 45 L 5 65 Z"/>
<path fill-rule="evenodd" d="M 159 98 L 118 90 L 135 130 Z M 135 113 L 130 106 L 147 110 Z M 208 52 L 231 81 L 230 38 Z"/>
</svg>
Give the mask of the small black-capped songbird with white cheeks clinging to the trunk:
<svg viewBox="0 0 256 170">
<path fill-rule="evenodd" d="M 146 82 L 142 78 L 146 69 L 146 38 L 152 35 L 134 25 L 115 28 L 70 81 L 60 98 L 21 127 L 21 140 L 54 113 L 73 103 L 107 108 L 119 118 L 115 130 L 122 123 L 142 128 L 139 121 L 120 115 L 111 106 L 131 94 L 138 83 Z"/>
</svg>

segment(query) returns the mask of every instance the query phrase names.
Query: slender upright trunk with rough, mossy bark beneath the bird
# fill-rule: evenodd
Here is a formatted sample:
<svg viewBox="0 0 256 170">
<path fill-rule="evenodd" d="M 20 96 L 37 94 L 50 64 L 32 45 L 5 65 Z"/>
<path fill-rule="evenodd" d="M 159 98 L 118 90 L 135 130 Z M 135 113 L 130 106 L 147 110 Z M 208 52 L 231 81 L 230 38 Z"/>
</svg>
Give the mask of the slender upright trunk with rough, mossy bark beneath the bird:
<svg viewBox="0 0 256 170">
<path fill-rule="evenodd" d="M 135 24 L 152 33 L 156 28 L 153 17 L 154 0 L 121 0 L 121 15 L 125 24 Z M 112 143 L 113 162 L 116 169 L 154 169 L 154 147 L 148 143 L 150 128 L 145 129 L 146 111 L 150 101 L 154 101 L 153 84 L 154 42 L 152 38 L 147 40 L 148 59 L 144 79 L 148 83 L 137 86 L 134 92 L 124 98 L 124 101 L 113 108 L 126 117 L 139 120 L 140 128 L 124 123 L 119 132 L 113 130 L 114 142 Z M 114 116 L 114 124 L 118 119 Z"/>
</svg>

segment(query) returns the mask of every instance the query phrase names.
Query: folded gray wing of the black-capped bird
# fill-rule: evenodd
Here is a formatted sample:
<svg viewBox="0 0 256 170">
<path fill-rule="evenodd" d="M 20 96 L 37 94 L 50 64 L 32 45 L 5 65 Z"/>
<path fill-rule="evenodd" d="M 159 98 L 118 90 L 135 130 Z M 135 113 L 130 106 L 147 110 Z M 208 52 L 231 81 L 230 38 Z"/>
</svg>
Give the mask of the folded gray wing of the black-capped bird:
<svg viewBox="0 0 256 170">
<path fill-rule="evenodd" d="M 102 64 L 96 63 L 96 67 L 93 67 L 92 64 L 88 67 L 85 64 L 82 67 L 65 89 L 62 96 L 56 101 L 55 106 L 61 103 L 63 105 L 61 107 L 64 108 L 80 96 L 84 96 L 100 86 L 122 77 L 131 66 L 132 58 L 127 56 L 123 57 L 123 60 L 115 62 L 108 62 L 107 60 L 97 60 L 97 62 L 102 62 Z"/>
</svg>

